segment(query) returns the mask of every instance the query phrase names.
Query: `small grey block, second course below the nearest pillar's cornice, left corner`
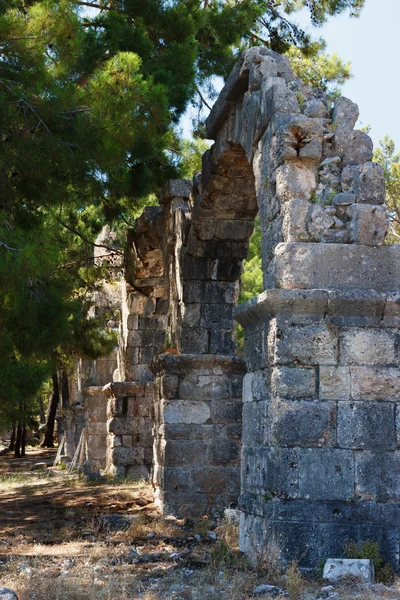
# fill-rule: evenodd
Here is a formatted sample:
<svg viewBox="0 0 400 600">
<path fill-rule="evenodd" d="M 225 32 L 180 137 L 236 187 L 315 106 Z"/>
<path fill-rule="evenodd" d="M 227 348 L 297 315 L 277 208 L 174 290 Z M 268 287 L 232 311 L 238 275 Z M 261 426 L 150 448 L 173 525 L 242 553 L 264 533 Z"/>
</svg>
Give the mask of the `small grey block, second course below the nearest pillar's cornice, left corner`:
<svg viewBox="0 0 400 600">
<path fill-rule="evenodd" d="M 272 391 L 284 398 L 311 398 L 317 389 L 314 368 L 275 367 L 271 378 Z"/>
</svg>

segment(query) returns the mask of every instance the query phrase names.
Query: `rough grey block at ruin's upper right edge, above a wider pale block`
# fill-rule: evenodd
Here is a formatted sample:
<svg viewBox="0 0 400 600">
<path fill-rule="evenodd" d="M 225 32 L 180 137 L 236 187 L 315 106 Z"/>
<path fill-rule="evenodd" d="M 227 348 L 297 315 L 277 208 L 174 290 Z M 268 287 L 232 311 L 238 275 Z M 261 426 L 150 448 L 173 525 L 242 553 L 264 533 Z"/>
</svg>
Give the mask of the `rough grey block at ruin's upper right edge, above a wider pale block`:
<svg viewBox="0 0 400 600">
<path fill-rule="evenodd" d="M 385 202 L 385 172 L 381 165 L 366 162 L 348 166 L 342 172 L 342 189 L 357 197 L 357 202 L 383 204 Z"/>
</svg>

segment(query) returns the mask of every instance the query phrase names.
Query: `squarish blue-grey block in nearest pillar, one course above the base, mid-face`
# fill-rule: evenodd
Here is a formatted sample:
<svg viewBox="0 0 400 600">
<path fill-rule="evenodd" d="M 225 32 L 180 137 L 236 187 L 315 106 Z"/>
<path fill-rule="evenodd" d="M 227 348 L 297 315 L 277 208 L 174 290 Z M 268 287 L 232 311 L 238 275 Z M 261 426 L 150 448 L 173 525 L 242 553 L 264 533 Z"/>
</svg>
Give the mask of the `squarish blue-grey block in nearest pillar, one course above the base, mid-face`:
<svg viewBox="0 0 400 600">
<path fill-rule="evenodd" d="M 344 500 L 354 497 L 351 450 L 300 449 L 300 497 L 306 500 Z"/>
</svg>

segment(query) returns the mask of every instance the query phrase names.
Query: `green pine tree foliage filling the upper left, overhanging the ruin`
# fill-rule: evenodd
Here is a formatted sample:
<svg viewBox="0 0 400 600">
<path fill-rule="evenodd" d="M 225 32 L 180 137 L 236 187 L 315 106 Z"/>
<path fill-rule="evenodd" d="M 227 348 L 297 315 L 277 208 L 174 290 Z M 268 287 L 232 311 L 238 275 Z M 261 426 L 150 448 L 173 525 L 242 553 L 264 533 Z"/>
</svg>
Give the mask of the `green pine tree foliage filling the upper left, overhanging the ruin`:
<svg viewBox="0 0 400 600">
<path fill-rule="evenodd" d="M 177 124 L 188 103 L 215 75 L 226 76 L 247 46 L 296 45 L 316 54 L 321 43 L 292 21 L 299 9 L 318 25 L 345 10 L 358 14 L 363 3 L 3 0 L 3 417 L 12 420 L 20 399 L 34 396 L 63 348 L 95 354 L 108 347 L 86 319 L 99 278 L 93 240 L 106 221 L 126 219 L 176 176 L 180 162 L 183 170 L 196 162 L 194 147 L 187 160 L 177 153 Z M 329 81 L 346 69 L 336 61 Z"/>
</svg>

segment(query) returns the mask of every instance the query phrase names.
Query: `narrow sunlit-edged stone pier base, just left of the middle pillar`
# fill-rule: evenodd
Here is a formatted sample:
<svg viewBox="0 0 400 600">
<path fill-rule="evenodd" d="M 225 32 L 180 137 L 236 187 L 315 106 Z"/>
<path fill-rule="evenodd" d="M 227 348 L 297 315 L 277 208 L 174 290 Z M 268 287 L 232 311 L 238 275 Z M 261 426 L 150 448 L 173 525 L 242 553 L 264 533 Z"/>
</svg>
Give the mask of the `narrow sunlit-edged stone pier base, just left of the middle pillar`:
<svg viewBox="0 0 400 600">
<path fill-rule="evenodd" d="M 153 464 L 154 383 L 114 382 L 107 402 L 107 465 L 111 477 L 148 479 Z"/>
</svg>

